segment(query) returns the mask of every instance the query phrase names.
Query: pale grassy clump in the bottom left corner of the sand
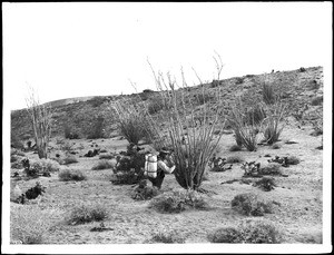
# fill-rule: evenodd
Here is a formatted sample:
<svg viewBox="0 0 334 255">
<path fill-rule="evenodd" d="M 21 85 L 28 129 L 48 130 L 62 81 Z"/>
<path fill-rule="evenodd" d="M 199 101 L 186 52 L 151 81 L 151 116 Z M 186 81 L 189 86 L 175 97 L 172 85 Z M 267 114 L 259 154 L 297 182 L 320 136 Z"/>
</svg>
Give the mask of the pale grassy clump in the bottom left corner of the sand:
<svg viewBox="0 0 334 255">
<path fill-rule="evenodd" d="M 31 205 L 11 208 L 10 243 L 42 244 L 46 232 L 51 227 L 50 216 Z"/>
</svg>

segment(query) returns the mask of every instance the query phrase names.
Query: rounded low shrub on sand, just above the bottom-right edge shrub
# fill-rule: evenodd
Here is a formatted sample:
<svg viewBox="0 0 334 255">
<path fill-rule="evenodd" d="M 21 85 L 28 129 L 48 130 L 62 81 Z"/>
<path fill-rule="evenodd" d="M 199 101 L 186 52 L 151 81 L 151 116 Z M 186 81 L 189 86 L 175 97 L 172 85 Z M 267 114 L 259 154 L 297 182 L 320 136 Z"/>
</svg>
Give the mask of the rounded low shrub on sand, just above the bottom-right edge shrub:
<svg viewBox="0 0 334 255">
<path fill-rule="evenodd" d="M 273 203 L 261 200 L 253 193 L 244 193 L 235 196 L 230 205 L 233 209 L 247 216 L 263 216 L 265 213 L 273 213 Z"/>
</svg>

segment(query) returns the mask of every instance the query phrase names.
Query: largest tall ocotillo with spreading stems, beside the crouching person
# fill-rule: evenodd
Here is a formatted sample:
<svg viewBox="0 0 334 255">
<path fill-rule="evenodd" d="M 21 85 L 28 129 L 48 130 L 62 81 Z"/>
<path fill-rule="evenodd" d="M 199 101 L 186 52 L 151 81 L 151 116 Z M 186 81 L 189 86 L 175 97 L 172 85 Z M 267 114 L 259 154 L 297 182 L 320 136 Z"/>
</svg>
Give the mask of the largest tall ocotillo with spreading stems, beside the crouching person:
<svg viewBox="0 0 334 255">
<path fill-rule="evenodd" d="M 219 80 L 222 65 L 218 65 L 218 61 L 216 63 L 219 70 Z M 174 151 L 176 180 L 186 189 L 198 189 L 209 158 L 223 135 L 223 133 L 219 133 L 217 137 L 214 135 L 214 130 L 217 127 L 223 129 L 225 124 L 220 118 L 223 109 L 219 88 L 217 88 L 215 100 L 204 101 L 196 109 L 194 100 L 191 100 L 194 97 L 189 97 L 187 92 L 188 86 L 183 71 L 183 86 L 177 89 L 177 82 L 169 73 L 164 76 L 161 72 L 156 73 L 153 68 L 151 70 L 160 96 L 165 105 L 169 106 L 168 111 L 165 111 L 164 115 Z M 203 96 L 205 91 L 202 81 L 200 86 Z M 198 122 L 198 118 L 202 121 Z"/>
</svg>

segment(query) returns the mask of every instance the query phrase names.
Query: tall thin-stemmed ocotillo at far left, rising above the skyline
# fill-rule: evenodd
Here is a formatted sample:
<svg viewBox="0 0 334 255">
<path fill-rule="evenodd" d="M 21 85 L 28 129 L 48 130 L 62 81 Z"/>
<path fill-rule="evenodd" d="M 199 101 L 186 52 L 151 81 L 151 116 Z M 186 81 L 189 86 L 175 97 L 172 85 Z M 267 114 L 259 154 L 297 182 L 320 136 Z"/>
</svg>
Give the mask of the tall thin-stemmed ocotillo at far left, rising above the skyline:
<svg viewBox="0 0 334 255">
<path fill-rule="evenodd" d="M 40 105 L 38 97 L 35 95 L 33 89 L 29 91 L 26 98 L 27 111 L 29 114 L 36 147 L 39 158 L 48 158 L 48 145 L 51 136 L 51 112 L 50 108 Z"/>
</svg>

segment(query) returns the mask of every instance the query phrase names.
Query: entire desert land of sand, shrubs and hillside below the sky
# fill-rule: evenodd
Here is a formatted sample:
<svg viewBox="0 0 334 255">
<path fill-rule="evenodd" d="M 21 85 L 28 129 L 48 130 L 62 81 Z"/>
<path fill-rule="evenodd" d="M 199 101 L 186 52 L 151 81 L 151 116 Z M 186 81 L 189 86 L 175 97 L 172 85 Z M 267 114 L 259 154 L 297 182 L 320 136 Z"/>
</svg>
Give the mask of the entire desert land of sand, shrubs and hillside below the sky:
<svg viewBox="0 0 334 255">
<path fill-rule="evenodd" d="M 323 76 L 301 67 L 48 102 L 47 158 L 29 111 L 11 111 L 11 244 L 322 244 Z M 135 134 L 139 105 L 150 137 Z M 156 189 L 145 155 L 163 145 L 176 170 Z"/>
</svg>

